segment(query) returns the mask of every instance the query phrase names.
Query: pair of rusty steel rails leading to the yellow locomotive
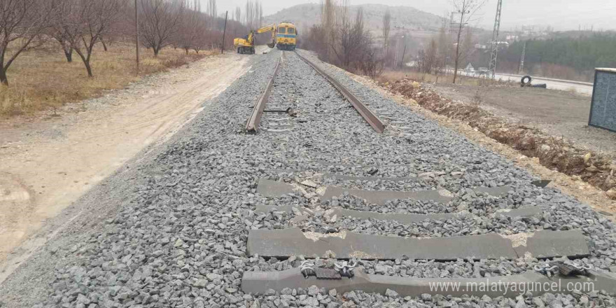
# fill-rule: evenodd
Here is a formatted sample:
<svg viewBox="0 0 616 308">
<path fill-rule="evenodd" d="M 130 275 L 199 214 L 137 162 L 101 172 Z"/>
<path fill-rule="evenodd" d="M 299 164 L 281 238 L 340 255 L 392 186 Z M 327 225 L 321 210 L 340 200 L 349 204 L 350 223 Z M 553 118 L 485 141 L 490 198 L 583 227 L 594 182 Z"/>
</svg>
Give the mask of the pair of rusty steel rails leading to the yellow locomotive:
<svg viewBox="0 0 616 308">
<path fill-rule="evenodd" d="M 335 89 L 338 90 L 338 92 L 342 94 L 342 96 L 353 105 L 353 108 L 372 127 L 372 129 L 374 129 L 375 132 L 377 133 L 384 132 L 386 125 L 379 118 L 379 116 L 377 116 L 374 112 L 372 112 L 368 106 L 363 104 L 363 102 L 360 99 L 358 99 L 358 97 L 356 97 L 346 87 L 344 87 L 342 83 L 339 83 L 335 78 L 330 76 L 330 74 L 323 71 L 323 69 L 320 69 L 316 64 L 314 64 L 314 62 L 300 55 L 299 52 L 294 51 L 293 53 L 297 55 L 297 57 L 302 59 L 302 61 L 309 64 L 309 66 L 311 66 L 312 69 L 314 69 L 314 71 L 316 71 L 321 76 L 323 76 L 323 78 L 328 80 L 328 83 L 330 83 L 333 87 L 335 87 Z M 283 56 L 284 56 L 284 51 L 281 54 L 280 59 L 282 59 Z M 258 101 L 253 107 L 253 113 L 251 114 L 251 117 L 248 118 L 248 123 L 246 123 L 247 132 L 257 132 L 258 131 L 260 120 L 261 120 L 263 112 L 265 111 L 267 100 L 269 99 L 269 95 L 272 92 L 272 87 L 274 87 L 274 80 L 276 79 L 276 75 L 279 70 L 280 59 L 279 59 L 278 64 L 276 64 L 276 68 L 274 69 L 274 73 L 272 74 L 272 77 L 269 78 L 269 81 L 267 82 L 267 86 L 265 87 L 265 90 L 263 90 Z M 283 112 L 283 110 L 279 112 Z"/>
</svg>

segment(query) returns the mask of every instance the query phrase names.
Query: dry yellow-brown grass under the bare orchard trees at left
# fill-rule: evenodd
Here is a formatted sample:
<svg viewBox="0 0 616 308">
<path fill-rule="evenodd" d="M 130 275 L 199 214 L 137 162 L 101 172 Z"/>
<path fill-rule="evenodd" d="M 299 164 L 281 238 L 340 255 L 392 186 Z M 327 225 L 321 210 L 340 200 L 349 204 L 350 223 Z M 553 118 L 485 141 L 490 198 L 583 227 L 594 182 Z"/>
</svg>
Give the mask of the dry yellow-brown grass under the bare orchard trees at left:
<svg viewBox="0 0 616 308">
<path fill-rule="evenodd" d="M 114 43 L 105 52 L 99 45 L 91 60 L 94 78 L 88 78 L 77 54 L 68 63 L 61 50 L 25 52 L 8 69 L 10 86 L 0 85 L 0 118 L 29 115 L 96 97 L 104 90 L 123 88 L 148 74 L 182 66 L 212 53 L 186 55 L 184 50 L 167 48 L 155 58 L 151 50 L 143 50 L 137 76 L 134 46 Z"/>
</svg>

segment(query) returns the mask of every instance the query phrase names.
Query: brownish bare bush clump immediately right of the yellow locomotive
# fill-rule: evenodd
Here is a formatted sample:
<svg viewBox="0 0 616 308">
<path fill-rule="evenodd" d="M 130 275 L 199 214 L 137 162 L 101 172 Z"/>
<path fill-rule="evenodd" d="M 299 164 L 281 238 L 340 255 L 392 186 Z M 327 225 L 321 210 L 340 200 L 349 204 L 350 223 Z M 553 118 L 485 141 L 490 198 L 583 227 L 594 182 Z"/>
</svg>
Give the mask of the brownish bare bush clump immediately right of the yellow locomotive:
<svg viewBox="0 0 616 308">
<path fill-rule="evenodd" d="M 321 25 L 307 31 L 302 48 L 314 50 L 325 62 L 368 76 L 376 76 L 383 69 L 384 52 L 365 29 L 362 8 L 351 19 L 348 0 L 323 1 Z"/>
</svg>

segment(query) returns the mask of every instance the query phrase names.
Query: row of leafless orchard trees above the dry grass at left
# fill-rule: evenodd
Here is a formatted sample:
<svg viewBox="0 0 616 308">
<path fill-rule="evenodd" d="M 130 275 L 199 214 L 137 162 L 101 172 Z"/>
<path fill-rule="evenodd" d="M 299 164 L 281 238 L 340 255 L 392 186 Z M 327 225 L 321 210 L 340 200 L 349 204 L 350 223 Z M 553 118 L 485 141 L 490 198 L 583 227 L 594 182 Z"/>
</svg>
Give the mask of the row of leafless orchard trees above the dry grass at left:
<svg viewBox="0 0 616 308">
<path fill-rule="evenodd" d="M 154 56 L 169 45 L 187 53 L 214 48 L 225 26 L 225 16 L 216 14 L 216 0 L 207 1 L 205 12 L 200 0 L 0 0 L 0 83 L 8 85 L 6 72 L 22 52 L 49 44 L 57 44 L 68 62 L 76 53 L 92 77 L 94 47 L 133 41 L 136 15 L 141 44 Z M 241 20 L 257 27 L 260 19 L 260 4 L 248 0 L 246 13 L 237 8 L 228 28 L 247 32 Z"/>
</svg>

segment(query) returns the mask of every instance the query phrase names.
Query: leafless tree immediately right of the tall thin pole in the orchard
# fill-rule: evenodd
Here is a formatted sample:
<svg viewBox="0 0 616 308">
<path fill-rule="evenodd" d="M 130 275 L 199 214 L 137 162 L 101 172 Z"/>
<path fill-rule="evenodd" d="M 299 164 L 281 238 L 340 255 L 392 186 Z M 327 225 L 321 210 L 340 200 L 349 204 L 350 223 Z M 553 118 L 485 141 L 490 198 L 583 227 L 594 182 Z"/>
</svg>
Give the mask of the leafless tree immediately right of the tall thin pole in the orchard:
<svg viewBox="0 0 616 308">
<path fill-rule="evenodd" d="M 177 0 L 141 0 L 139 29 L 141 41 L 152 48 L 154 56 L 174 41 L 181 26 L 186 5 Z"/>
</svg>

